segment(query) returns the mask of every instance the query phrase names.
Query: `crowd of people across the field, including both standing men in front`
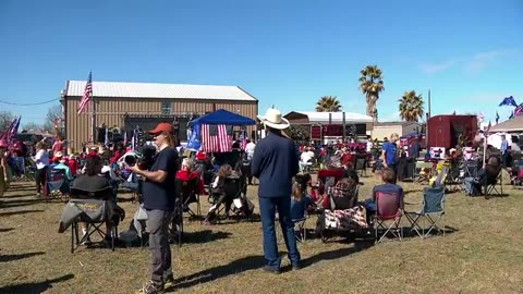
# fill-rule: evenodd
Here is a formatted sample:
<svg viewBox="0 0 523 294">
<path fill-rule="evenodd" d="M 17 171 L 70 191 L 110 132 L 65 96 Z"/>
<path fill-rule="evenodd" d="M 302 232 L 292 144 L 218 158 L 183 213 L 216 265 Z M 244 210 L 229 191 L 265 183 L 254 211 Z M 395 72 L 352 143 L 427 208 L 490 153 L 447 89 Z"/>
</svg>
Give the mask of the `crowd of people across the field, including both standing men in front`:
<svg viewBox="0 0 523 294">
<path fill-rule="evenodd" d="M 89 193 L 105 191 L 108 194 L 97 195 L 100 199 L 111 203 L 111 210 L 118 216 L 124 215 L 123 210 L 118 206 L 114 181 L 120 181 L 115 175 L 123 169 L 132 174 L 132 179 L 142 179 L 139 195 L 142 207 L 147 215 L 146 230 L 148 232 L 148 246 L 150 249 L 150 277 L 139 293 L 159 293 L 166 287 L 173 284 L 173 269 L 171 262 L 170 249 L 170 224 L 172 224 L 177 198 L 183 197 L 181 188 L 177 184 L 178 179 L 181 182 L 196 181 L 195 193 L 206 193 L 206 177 L 208 172 L 211 174 L 209 184 L 209 197 L 215 200 L 210 207 L 205 221 L 206 223 L 216 223 L 218 211 L 224 207 L 224 217 L 231 213 L 234 197 L 227 192 L 227 182 L 229 179 L 244 179 L 244 186 L 241 186 L 240 193 L 246 194 L 246 185 L 252 184 L 253 176 L 258 179 L 258 200 L 259 213 L 263 226 L 263 249 L 265 256 L 264 270 L 271 273 L 281 272 L 281 256 L 278 254 L 278 243 L 276 237 L 277 221 L 280 222 L 282 236 L 288 249 L 288 257 L 293 270 L 302 268 L 301 255 L 296 246 L 296 236 L 294 224 L 296 220 L 305 217 L 307 211 L 318 209 L 351 210 L 356 206 L 366 209 L 366 224 L 372 225 L 372 217 L 376 213 L 377 195 L 397 195 L 399 196 L 399 207 L 403 208 L 404 191 L 401 185 L 397 184 L 399 173 L 402 173 L 402 160 L 409 158 L 418 158 L 421 144 L 417 138 L 413 139 L 408 149 L 398 146 L 398 134 L 391 134 L 384 143 L 380 152 L 374 154 L 375 143 L 367 140 L 365 146 L 346 146 L 346 145 L 304 145 L 296 147 L 294 142 L 285 134 L 285 128 L 290 126 L 289 122 L 282 118 L 281 113 L 276 109 L 269 109 L 264 117 L 259 117 L 265 125 L 267 136 L 257 143 L 245 139 L 235 142 L 233 147 L 243 150 L 241 159 L 236 164 L 232 163 L 227 157 L 217 156 L 215 160 L 203 151 L 196 154 L 187 154 L 177 150 L 174 140 L 174 130 L 170 123 L 160 123 L 149 134 L 154 137 L 156 151 L 149 162 L 131 162 L 125 157 L 133 154 L 123 144 L 115 144 L 108 149 L 85 150 L 82 154 L 65 156 L 65 139 L 58 135 L 56 142 L 48 151 L 46 142 L 36 143 L 35 154 L 32 158 L 35 163 L 35 186 L 36 195 L 45 197 L 46 181 L 49 170 L 63 170 L 65 180 L 69 183 L 60 191 L 62 194 L 71 194 L 71 198 L 75 198 L 74 191 L 86 191 Z M 369 143 L 369 144 L 368 144 Z M 243 145 L 242 145 L 243 144 Z M 507 146 L 503 145 L 501 155 L 506 159 Z M 10 181 L 8 176 L 8 158 L 7 144 L 0 140 L 0 185 L 1 193 L 5 191 Z M 461 152 L 461 149 L 459 150 Z M 463 156 L 458 151 L 449 154 L 449 158 Z M 373 187 L 372 195 L 368 199 L 357 200 L 354 195 L 353 187 L 360 184 L 358 175 L 355 172 L 355 159 L 364 158 L 366 160 L 374 159 L 374 170 L 379 170 L 382 184 Z M 365 160 L 365 167 L 367 161 Z M 245 164 L 247 162 L 247 164 Z M 342 176 L 339 183 L 343 186 L 344 199 L 332 199 L 331 204 L 318 203 L 318 199 L 307 189 L 315 187 L 308 172 L 312 164 L 319 167 L 321 170 L 342 170 Z M 488 160 L 485 169 L 500 164 Z M 374 171 L 373 170 L 373 171 Z M 135 180 L 133 180 L 135 181 Z M 319 180 L 318 180 L 319 181 Z M 467 186 L 472 186 L 473 180 L 465 180 Z M 324 183 L 328 184 L 328 183 Z M 336 183 L 330 183 L 331 187 Z M 112 191 L 112 193 L 111 193 Z M 324 193 L 329 191 L 327 187 Z M 351 191 L 351 193 L 345 193 Z M 336 197 L 336 193 L 331 195 Z M 246 197 L 245 197 L 246 198 Z M 180 200 L 180 199 L 178 199 Z M 244 204 L 250 207 L 247 204 Z M 351 210 L 352 211 L 352 210 Z M 244 211 L 246 212 L 246 211 Z M 251 211 L 252 212 L 252 211 Z M 361 222 L 358 222 L 361 223 Z M 106 224 L 106 238 L 112 240 L 118 237 L 112 235 L 111 222 Z M 87 228 L 82 224 L 83 234 L 87 234 Z M 84 243 L 89 243 L 88 237 Z"/>
</svg>

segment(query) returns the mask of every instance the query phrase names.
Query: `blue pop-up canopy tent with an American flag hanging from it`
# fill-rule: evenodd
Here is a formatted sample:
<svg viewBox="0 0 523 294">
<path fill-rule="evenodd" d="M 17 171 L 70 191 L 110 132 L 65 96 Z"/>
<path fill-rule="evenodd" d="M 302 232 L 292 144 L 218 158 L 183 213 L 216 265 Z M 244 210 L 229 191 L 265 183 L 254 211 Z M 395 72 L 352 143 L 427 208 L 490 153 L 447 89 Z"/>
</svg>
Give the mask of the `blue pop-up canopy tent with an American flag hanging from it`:
<svg viewBox="0 0 523 294">
<path fill-rule="evenodd" d="M 206 152 L 232 151 L 232 127 L 234 125 L 253 125 L 253 119 L 219 109 L 190 122 L 193 132 L 187 148 L 203 149 Z"/>
</svg>

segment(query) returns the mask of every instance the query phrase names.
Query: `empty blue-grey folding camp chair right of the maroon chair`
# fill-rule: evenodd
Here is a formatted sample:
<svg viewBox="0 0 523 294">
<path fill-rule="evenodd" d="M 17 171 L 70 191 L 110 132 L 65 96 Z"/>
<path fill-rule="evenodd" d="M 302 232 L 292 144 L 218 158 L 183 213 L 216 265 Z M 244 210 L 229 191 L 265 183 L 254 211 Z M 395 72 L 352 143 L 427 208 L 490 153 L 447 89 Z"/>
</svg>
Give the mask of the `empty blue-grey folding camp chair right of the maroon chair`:
<svg viewBox="0 0 523 294">
<path fill-rule="evenodd" d="M 411 231 L 415 231 L 421 238 L 427 237 L 433 230 L 443 233 L 445 236 L 445 187 L 436 185 L 425 189 L 423 193 L 423 204 L 418 211 L 405 211 L 405 217 L 411 223 Z M 428 228 L 423 228 L 419 222 L 425 219 L 428 221 Z M 442 226 L 438 222 L 442 222 Z M 425 233 L 426 230 L 426 233 Z"/>
</svg>

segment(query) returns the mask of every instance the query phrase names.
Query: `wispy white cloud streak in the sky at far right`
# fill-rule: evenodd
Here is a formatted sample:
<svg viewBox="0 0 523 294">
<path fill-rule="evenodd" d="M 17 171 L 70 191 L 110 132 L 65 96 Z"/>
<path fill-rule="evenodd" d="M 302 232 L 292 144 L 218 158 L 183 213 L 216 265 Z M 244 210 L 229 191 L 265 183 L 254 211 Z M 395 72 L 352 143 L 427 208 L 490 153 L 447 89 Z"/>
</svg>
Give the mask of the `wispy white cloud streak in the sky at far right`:
<svg viewBox="0 0 523 294">
<path fill-rule="evenodd" d="M 469 73 L 478 73 L 510 54 L 518 53 L 518 49 L 500 49 L 488 52 L 475 53 L 471 57 L 451 58 L 436 63 L 423 63 L 419 69 L 426 74 L 443 72 L 455 66 L 462 66 Z"/>
</svg>

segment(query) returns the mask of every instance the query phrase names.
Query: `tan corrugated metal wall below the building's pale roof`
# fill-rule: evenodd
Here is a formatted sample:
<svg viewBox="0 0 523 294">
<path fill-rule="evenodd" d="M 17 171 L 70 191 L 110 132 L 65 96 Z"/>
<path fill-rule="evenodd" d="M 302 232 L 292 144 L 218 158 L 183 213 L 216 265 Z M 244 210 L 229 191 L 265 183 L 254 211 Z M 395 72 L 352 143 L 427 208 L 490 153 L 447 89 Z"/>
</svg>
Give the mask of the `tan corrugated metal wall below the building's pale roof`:
<svg viewBox="0 0 523 294">
<path fill-rule="evenodd" d="M 182 100 L 171 99 L 174 113 L 206 113 L 217 109 L 226 109 L 241 115 L 256 120 L 258 114 L 257 101 L 223 101 L 223 100 Z M 66 136 L 70 146 L 75 150 L 82 148 L 82 144 L 90 138 L 90 108 L 83 114 L 77 115 L 76 109 L 80 97 L 66 97 Z M 107 126 L 123 126 L 124 115 L 133 114 L 161 114 L 161 103 L 166 99 L 136 99 L 136 98 L 96 98 L 97 126 L 105 123 Z M 90 107 L 90 106 L 89 106 Z M 247 134 L 256 126 L 248 126 Z"/>
</svg>

